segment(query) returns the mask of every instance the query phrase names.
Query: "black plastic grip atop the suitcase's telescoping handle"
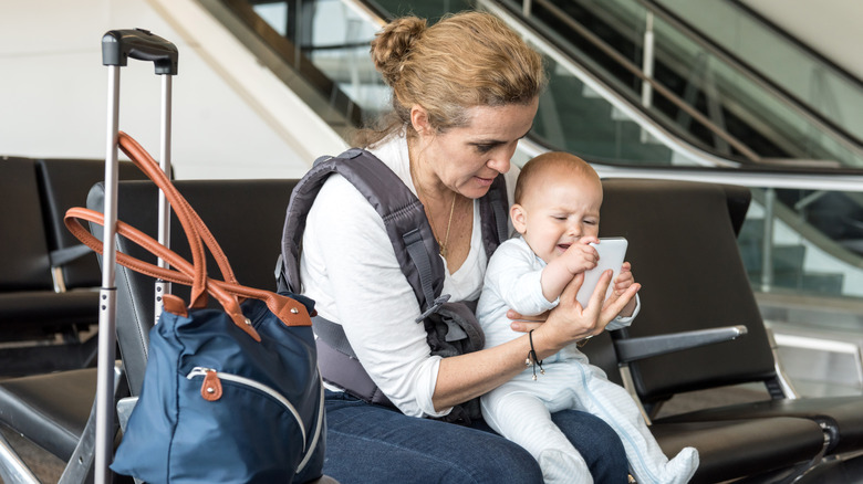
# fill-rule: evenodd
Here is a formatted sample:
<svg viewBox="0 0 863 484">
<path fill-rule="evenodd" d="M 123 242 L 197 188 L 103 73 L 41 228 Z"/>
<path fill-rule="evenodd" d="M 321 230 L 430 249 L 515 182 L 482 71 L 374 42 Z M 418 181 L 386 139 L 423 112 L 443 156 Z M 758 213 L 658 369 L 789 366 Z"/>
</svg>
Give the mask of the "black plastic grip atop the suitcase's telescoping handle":
<svg viewBox="0 0 863 484">
<path fill-rule="evenodd" d="M 177 74 L 177 48 L 148 30 L 111 30 L 102 36 L 102 65 L 124 66 L 128 57 L 152 61 L 156 74 Z"/>
</svg>

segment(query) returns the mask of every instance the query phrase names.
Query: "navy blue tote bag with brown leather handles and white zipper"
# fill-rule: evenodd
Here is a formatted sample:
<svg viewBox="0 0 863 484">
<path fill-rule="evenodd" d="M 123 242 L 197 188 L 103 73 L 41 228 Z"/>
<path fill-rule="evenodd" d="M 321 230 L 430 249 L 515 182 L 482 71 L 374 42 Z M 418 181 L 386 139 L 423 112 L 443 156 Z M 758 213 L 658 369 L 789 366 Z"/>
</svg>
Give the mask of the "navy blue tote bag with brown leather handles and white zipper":
<svg viewBox="0 0 863 484">
<path fill-rule="evenodd" d="M 325 450 L 323 387 L 310 313 L 302 296 L 240 285 L 225 254 L 188 202 L 134 139 L 121 149 L 165 192 L 189 240 L 189 263 L 143 232 L 117 233 L 173 269 L 117 253 L 117 263 L 191 286 L 190 304 L 164 297 L 150 332 L 144 385 L 112 469 L 148 483 L 290 483 L 321 476 Z M 80 220 L 102 213 L 73 208 L 66 225 L 96 252 L 102 243 Z M 205 246 L 222 278 L 206 274 Z M 206 308 L 215 297 L 220 309 Z"/>
</svg>

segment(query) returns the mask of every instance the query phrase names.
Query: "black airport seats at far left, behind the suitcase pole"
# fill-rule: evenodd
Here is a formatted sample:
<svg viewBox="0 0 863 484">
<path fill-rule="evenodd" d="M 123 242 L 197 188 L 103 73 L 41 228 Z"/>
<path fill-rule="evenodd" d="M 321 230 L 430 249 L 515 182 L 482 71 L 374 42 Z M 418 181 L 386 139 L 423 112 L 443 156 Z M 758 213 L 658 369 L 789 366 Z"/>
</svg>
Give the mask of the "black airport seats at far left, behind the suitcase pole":
<svg viewBox="0 0 863 484">
<path fill-rule="evenodd" d="M 141 178 L 121 164 L 122 178 Z M 95 159 L 0 158 L 0 375 L 89 366 L 98 320 L 95 254 L 63 225 L 104 178 Z M 82 336 L 82 334 L 84 336 Z"/>
</svg>

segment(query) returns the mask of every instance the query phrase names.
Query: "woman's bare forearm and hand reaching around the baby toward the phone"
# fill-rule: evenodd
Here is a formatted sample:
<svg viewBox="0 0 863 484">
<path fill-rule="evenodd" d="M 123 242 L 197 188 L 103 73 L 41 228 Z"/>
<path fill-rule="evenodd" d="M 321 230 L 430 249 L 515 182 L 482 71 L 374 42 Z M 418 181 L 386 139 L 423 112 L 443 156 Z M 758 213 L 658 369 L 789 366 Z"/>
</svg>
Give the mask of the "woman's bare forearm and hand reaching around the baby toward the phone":
<svg viewBox="0 0 863 484">
<path fill-rule="evenodd" d="M 602 307 L 605 290 L 611 282 L 612 272 L 606 271 L 593 291 L 588 309 L 575 301 L 583 275 L 573 278 L 563 291 L 560 304 L 550 314 L 545 323 L 537 323 L 533 330 L 533 349 L 539 359 L 547 358 L 564 346 L 602 333 L 641 287 L 633 284 L 616 301 Z M 600 309 L 602 307 L 602 309 Z M 518 375 L 524 369 L 524 360 L 530 351 L 528 335 L 509 343 L 467 355 L 444 358 L 438 370 L 437 385 L 433 401 L 436 409 L 453 407 L 479 397 Z"/>
</svg>

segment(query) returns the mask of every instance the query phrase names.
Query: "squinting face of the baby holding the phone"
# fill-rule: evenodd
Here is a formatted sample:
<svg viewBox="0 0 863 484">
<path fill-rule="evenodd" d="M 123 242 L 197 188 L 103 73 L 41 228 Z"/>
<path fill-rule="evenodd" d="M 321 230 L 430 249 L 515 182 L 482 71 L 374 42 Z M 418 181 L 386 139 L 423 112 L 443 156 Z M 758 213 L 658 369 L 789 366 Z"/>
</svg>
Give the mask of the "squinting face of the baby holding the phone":
<svg viewBox="0 0 863 484">
<path fill-rule="evenodd" d="M 523 224 L 516 229 L 540 259 L 548 263 L 582 236 L 599 236 L 602 183 L 574 176 L 536 181 L 521 203 Z"/>
</svg>

